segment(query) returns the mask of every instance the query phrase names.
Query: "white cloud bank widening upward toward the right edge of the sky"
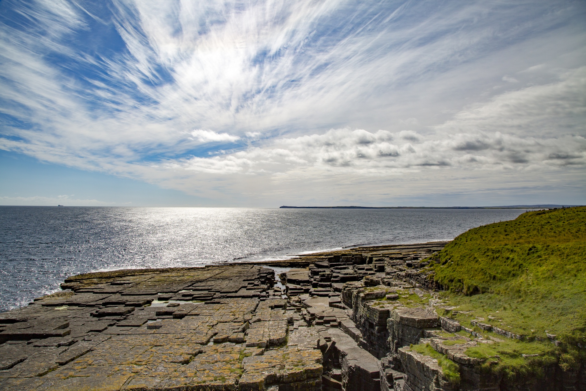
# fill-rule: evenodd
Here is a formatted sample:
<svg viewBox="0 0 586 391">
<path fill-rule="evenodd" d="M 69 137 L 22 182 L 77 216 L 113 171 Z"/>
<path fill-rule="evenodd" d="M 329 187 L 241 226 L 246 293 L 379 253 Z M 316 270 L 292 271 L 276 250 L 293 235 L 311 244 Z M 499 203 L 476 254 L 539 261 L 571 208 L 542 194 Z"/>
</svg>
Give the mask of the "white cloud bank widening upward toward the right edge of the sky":
<svg viewBox="0 0 586 391">
<path fill-rule="evenodd" d="M 332 129 L 176 164 L 217 174 L 262 169 L 265 175 L 309 168 L 388 175 L 440 167 L 530 170 L 585 166 L 586 124 L 579 118 L 586 118 L 586 105 L 581 91 L 586 91 L 586 67 L 564 74 L 557 83 L 509 91 L 483 105 L 466 108 L 427 135 L 412 130 Z M 574 115 L 575 121 L 570 122 Z M 571 123 L 578 134 L 568 134 L 566 128 L 554 125 L 563 121 Z M 525 130 L 529 126 L 531 132 Z"/>
</svg>

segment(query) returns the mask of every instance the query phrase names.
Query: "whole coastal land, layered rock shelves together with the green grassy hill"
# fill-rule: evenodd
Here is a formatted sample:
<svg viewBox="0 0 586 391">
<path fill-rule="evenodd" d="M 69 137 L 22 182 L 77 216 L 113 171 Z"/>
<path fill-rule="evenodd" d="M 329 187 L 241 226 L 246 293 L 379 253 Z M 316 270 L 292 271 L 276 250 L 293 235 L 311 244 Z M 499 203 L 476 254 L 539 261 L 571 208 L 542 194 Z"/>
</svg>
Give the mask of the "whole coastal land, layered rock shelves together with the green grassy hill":
<svg viewBox="0 0 586 391">
<path fill-rule="evenodd" d="M 71 276 L 0 314 L 0 389 L 584 390 L 584 216 L 530 212 L 452 242 L 264 264 Z"/>
</svg>

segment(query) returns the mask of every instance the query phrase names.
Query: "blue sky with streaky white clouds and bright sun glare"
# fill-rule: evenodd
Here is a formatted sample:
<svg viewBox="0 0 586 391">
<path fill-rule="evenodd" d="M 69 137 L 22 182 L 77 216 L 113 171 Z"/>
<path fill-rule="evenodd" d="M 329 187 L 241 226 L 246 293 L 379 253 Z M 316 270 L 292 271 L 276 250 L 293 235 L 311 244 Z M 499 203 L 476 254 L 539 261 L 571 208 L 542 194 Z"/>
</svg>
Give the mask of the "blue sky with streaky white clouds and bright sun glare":
<svg viewBox="0 0 586 391">
<path fill-rule="evenodd" d="M 586 2 L 0 1 L 0 205 L 586 203 Z"/>
</svg>

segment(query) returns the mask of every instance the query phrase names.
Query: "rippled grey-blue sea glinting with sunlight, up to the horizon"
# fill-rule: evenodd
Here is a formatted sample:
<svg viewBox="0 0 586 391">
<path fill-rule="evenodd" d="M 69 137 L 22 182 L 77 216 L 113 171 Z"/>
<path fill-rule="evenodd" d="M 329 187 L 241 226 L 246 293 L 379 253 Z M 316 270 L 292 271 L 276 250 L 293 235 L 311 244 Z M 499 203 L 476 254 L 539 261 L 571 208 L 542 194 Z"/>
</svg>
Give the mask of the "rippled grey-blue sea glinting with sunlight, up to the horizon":
<svg viewBox="0 0 586 391">
<path fill-rule="evenodd" d="M 64 278 L 123 268 L 288 259 L 451 240 L 519 209 L 266 209 L 0 206 L 0 312 Z"/>
</svg>

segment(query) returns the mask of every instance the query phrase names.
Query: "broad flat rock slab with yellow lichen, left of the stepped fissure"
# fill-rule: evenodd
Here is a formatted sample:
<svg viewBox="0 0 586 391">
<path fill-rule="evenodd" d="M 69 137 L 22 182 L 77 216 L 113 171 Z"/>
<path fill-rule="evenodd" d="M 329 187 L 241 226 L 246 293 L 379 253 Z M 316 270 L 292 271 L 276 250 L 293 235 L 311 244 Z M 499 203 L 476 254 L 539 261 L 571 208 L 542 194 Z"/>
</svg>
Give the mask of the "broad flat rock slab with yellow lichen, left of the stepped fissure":
<svg viewBox="0 0 586 391">
<path fill-rule="evenodd" d="M 273 278 L 259 266 L 68 278 L 73 292 L 0 315 L 0 389 L 321 389 L 319 345 L 305 333 L 287 346 L 295 311 L 271 300 Z M 211 300 L 183 296 L 204 289 Z"/>
</svg>

